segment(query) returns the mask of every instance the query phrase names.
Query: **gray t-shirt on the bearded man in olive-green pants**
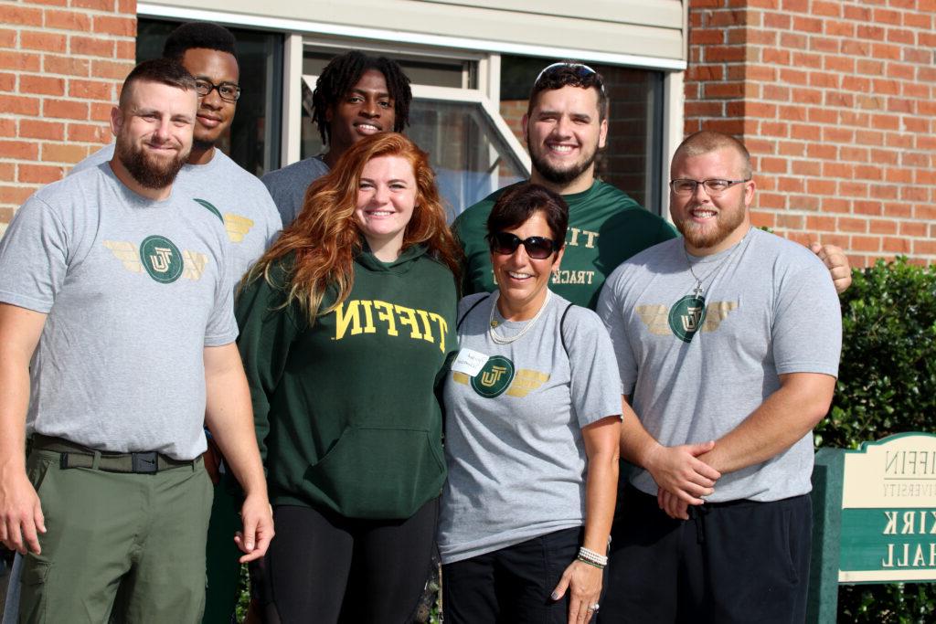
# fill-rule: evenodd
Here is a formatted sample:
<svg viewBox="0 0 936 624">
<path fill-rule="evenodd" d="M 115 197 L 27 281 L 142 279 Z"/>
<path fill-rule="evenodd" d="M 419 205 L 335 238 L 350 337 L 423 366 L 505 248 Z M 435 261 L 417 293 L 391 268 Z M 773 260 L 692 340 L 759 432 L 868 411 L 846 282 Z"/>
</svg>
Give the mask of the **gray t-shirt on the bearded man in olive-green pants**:
<svg viewBox="0 0 936 624">
<path fill-rule="evenodd" d="M 203 349 L 237 338 L 229 249 L 196 198 L 148 200 L 107 164 L 27 199 L 0 240 L 0 301 L 48 314 L 27 431 L 198 457 Z"/>
</svg>

